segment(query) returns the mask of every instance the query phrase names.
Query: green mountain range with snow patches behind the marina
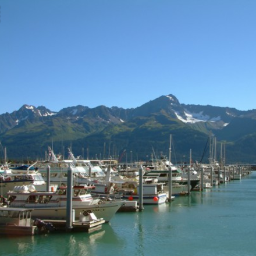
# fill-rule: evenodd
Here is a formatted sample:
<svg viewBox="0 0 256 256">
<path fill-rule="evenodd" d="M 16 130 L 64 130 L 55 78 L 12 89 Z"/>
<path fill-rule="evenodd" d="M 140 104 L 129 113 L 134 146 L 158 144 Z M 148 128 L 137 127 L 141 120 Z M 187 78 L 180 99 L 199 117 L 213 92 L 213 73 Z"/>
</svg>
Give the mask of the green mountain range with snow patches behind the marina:
<svg viewBox="0 0 256 256">
<path fill-rule="evenodd" d="M 251 164 L 256 155 L 256 109 L 180 104 L 172 94 L 134 109 L 78 105 L 54 112 L 23 105 L 0 115 L 0 141 L 0 158 L 6 148 L 12 161 L 46 159 L 48 147 L 67 158 L 69 147 L 84 159 L 133 162 L 170 155 L 179 163 L 189 162 L 191 155 L 198 162 L 215 158 Z"/>
</svg>

